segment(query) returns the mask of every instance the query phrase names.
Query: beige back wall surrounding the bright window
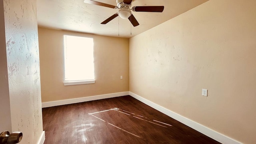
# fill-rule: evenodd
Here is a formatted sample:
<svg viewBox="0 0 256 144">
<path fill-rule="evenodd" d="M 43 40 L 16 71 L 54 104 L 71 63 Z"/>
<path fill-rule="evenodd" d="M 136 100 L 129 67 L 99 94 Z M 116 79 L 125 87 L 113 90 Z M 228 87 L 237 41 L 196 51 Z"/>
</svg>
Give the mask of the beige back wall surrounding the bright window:
<svg viewBox="0 0 256 144">
<path fill-rule="evenodd" d="M 129 91 L 128 39 L 47 28 L 38 28 L 38 34 L 42 102 Z M 64 86 L 64 34 L 94 38 L 95 84 Z"/>
</svg>

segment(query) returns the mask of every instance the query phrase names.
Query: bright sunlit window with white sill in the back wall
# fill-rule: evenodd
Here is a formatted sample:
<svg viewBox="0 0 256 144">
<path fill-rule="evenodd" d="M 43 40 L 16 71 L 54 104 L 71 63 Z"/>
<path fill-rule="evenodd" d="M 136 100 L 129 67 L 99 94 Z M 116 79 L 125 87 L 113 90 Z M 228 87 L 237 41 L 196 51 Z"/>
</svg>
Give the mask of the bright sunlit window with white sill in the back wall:
<svg viewBox="0 0 256 144">
<path fill-rule="evenodd" d="M 64 35 L 64 59 L 65 86 L 95 83 L 93 38 Z"/>
</svg>

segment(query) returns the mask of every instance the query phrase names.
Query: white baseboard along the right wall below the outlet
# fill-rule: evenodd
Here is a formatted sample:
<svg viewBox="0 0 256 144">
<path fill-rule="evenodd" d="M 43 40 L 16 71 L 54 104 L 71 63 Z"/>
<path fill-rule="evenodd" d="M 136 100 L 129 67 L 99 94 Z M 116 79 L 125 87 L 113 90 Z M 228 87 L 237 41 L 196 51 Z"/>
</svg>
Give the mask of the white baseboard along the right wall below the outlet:
<svg viewBox="0 0 256 144">
<path fill-rule="evenodd" d="M 209 136 L 210 138 L 212 138 L 218 142 L 221 142 L 222 144 L 242 144 L 241 142 L 238 142 L 237 140 L 234 140 L 228 136 L 225 136 L 224 134 L 221 134 L 221 133 L 216 132 L 206 126 L 203 126 L 202 124 L 199 124 L 197 122 L 194 122 L 193 120 L 190 120 L 184 116 L 181 116 L 175 112 L 172 112 L 171 110 L 168 110 L 162 106 L 159 106 L 158 104 L 155 104 L 154 102 L 151 102 L 145 98 L 142 98 L 141 96 L 138 96 L 137 94 L 129 92 L 129 95 L 136 98 L 137 100 L 143 102 L 144 104 L 166 114 L 167 116 L 170 116 L 171 118 L 174 118 L 175 120 L 178 120 L 179 122 L 189 126 L 190 128 L 193 128 L 194 130 L 197 130 L 198 132 L 201 132 L 202 134 Z"/>
</svg>

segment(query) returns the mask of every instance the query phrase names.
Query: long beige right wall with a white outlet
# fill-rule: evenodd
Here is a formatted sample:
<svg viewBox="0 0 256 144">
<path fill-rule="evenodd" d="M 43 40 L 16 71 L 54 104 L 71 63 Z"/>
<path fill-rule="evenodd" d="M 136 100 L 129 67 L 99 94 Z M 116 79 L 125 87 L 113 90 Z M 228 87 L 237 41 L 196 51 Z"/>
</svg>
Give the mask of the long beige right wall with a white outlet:
<svg viewBox="0 0 256 144">
<path fill-rule="evenodd" d="M 255 0 L 210 0 L 131 38 L 130 91 L 255 144 L 255 7 Z"/>
</svg>

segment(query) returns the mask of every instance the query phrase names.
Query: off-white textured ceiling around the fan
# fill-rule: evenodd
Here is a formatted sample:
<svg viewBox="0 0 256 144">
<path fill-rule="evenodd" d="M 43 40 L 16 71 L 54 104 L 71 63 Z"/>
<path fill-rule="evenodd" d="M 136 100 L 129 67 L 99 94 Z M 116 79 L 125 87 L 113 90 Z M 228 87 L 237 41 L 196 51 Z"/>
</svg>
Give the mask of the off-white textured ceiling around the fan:
<svg viewBox="0 0 256 144">
<path fill-rule="evenodd" d="M 38 26 L 114 37 L 118 37 L 119 29 L 119 37 L 131 38 L 206 1 L 208 0 L 133 0 L 132 6 L 164 6 L 164 11 L 132 12 L 140 25 L 132 26 L 131 29 L 128 19 L 118 17 L 105 25 L 100 24 L 118 12 L 118 9 L 86 4 L 84 0 L 37 0 Z M 116 0 L 98 2 L 116 6 Z"/>
</svg>

